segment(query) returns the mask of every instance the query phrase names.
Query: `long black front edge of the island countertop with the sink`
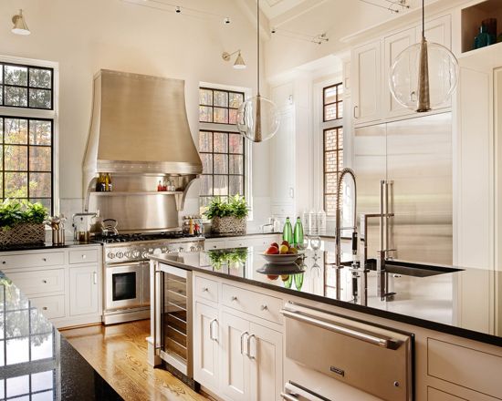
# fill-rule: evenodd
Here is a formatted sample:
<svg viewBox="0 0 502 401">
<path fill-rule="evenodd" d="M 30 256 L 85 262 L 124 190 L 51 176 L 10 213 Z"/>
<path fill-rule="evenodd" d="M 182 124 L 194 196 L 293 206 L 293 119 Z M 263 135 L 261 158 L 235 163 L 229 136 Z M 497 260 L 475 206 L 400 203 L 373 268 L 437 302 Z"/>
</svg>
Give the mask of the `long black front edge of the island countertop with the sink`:
<svg viewBox="0 0 502 401">
<path fill-rule="evenodd" d="M 339 301 L 339 300 L 324 297 L 321 295 L 315 295 L 315 294 L 311 294 L 311 293 L 301 293 L 296 290 L 290 290 L 288 288 L 278 287 L 277 285 L 257 282 L 255 280 L 249 280 L 246 278 L 233 276 L 231 274 L 224 274 L 221 272 L 214 272 L 214 271 L 210 271 L 210 270 L 199 269 L 199 268 L 196 268 L 196 267 L 193 267 L 193 266 L 181 263 L 181 262 L 166 261 L 162 257 L 158 258 L 153 255 L 150 255 L 149 258 L 152 259 L 153 261 L 161 262 L 164 264 L 169 263 L 169 264 L 173 265 L 174 267 L 179 267 L 184 270 L 191 270 L 193 272 L 202 272 L 202 273 L 214 275 L 216 277 L 220 277 L 223 279 L 232 280 L 232 281 L 239 282 L 239 283 L 246 283 L 246 284 L 254 285 L 256 287 L 266 288 L 267 290 L 276 291 L 278 293 L 286 293 L 288 295 L 296 296 L 298 298 L 309 299 L 310 301 L 314 301 L 314 302 L 327 303 L 329 305 L 338 306 L 340 308 L 349 309 L 351 311 L 361 312 L 362 314 L 371 314 L 372 316 L 382 317 L 384 319 L 393 320 L 395 322 L 400 322 L 403 324 L 416 325 L 419 327 L 423 327 L 425 329 L 434 330 L 436 332 L 441 332 L 441 333 L 445 333 L 445 334 L 456 335 L 458 337 L 467 338 L 469 340 L 478 341 L 480 343 L 502 346 L 502 337 L 497 337 L 497 335 L 479 333 L 474 330 L 468 330 L 468 329 L 464 329 L 461 327 L 455 327 L 455 326 L 452 326 L 449 324 L 442 324 L 442 323 L 438 323 L 438 322 L 434 322 L 434 321 L 430 321 L 430 320 L 420 319 L 420 318 L 413 317 L 413 316 L 407 316 L 405 314 L 396 314 L 394 312 L 383 311 L 381 309 L 375 309 L 375 308 L 372 308 L 371 306 L 364 306 L 364 305 L 360 305 L 357 303 L 347 303 L 345 301 Z"/>
</svg>

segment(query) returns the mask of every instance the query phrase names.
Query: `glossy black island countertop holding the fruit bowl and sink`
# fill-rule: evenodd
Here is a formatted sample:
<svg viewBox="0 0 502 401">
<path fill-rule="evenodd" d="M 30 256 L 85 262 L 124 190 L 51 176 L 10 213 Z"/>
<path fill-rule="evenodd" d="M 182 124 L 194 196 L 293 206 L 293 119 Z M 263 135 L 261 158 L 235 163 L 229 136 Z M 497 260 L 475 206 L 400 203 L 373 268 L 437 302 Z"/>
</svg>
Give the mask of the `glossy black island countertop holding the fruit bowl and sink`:
<svg viewBox="0 0 502 401">
<path fill-rule="evenodd" d="M 329 264 L 334 262 L 333 252 L 316 253 L 308 250 L 304 261 L 281 266 L 267 263 L 258 251 L 262 252 L 253 248 L 239 248 L 171 253 L 152 256 L 152 259 L 502 346 L 502 336 L 500 332 L 497 335 L 494 328 L 502 321 L 502 311 L 496 307 L 497 298 L 502 295 L 502 272 L 469 268 L 455 271 L 440 266 L 430 266 L 424 270 L 420 268 L 421 265 L 413 265 L 410 269 L 405 262 L 398 262 L 398 265 L 389 267 L 386 273 L 389 292 L 395 295 L 382 300 L 377 292 L 379 276 L 374 271 L 361 273 L 367 282 L 367 295 L 361 296 L 360 283 L 360 294 L 354 297 L 350 267 L 336 269 Z M 225 258 L 225 252 L 231 253 L 232 262 L 225 262 L 228 259 Z M 342 260 L 351 258 L 352 255 L 348 253 L 343 255 Z M 298 270 L 304 272 L 295 273 Z"/>
</svg>

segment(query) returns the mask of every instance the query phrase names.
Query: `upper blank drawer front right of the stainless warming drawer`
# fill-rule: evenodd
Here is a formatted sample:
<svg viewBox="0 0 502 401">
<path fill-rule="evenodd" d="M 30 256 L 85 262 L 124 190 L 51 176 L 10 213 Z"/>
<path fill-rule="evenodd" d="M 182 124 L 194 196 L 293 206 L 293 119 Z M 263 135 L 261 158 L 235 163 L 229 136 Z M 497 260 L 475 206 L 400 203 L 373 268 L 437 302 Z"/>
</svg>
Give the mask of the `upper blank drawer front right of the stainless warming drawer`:
<svg viewBox="0 0 502 401">
<path fill-rule="evenodd" d="M 427 370 L 457 386 L 502 398 L 502 356 L 428 338 Z"/>
</svg>

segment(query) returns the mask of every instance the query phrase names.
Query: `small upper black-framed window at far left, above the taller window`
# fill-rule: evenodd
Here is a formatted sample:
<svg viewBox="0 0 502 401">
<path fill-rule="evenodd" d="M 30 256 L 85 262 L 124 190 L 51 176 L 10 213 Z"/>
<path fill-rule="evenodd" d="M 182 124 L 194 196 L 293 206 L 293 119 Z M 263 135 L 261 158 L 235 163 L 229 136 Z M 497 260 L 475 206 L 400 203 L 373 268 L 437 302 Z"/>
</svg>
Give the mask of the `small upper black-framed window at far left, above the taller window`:
<svg viewBox="0 0 502 401">
<path fill-rule="evenodd" d="M 0 106 L 54 109 L 54 70 L 0 62 Z"/>
</svg>

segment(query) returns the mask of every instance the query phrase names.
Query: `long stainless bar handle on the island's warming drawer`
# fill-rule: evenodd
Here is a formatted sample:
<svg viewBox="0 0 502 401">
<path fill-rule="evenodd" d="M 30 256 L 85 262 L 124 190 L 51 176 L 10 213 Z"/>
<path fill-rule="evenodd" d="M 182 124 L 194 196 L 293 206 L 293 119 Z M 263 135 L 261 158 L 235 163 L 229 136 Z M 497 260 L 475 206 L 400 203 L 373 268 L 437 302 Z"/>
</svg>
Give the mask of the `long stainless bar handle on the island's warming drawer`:
<svg viewBox="0 0 502 401">
<path fill-rule="evenodd" d="M 319 320 L 315 317 L 309 316 L 309 314 L 300 314 L 298 312 L 291 312 L 287 309 L 281 309 L 281 314 L 285 317 L 289 317 L 291 319 L 298 320 L 298 322 L 303 322 L 307 324 L 312 324 L 318 326 L 320 328 L 329 330 L 333 333 L 348 335 L 357 340 L 365 341 L 366 343 L 382 346 L 383 348 L 388 349 L 397 349 L 401 345 L 398 340 L 394 340 L 392 338 L 382 338 L 377 335 L 362 333 L 350 327 L 345 327 L 340 324 L 333 324 L 330 322 L 325 322 L 323 320 Z"/>
</svg>

